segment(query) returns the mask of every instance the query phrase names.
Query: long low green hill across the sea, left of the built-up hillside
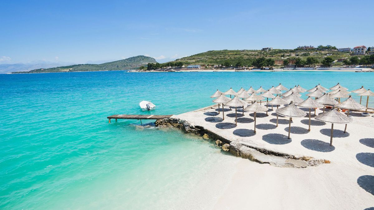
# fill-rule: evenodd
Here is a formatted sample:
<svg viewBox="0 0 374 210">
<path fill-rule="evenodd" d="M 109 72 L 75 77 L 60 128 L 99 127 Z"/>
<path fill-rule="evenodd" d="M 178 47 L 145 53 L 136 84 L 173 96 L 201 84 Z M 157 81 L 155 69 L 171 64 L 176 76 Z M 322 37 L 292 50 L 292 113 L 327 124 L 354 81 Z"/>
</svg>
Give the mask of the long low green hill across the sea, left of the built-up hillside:
<svg viewBox="0 0 374 210">
<path fill-rule="evenodd" d="M 113 71 L 136 69 L 147 63 L 156 63 L 154 58 L 138 55 L 119 61 L 108 62 L 104 64 L 77 64 L 55 68 L 39 68 L 31 71 L 18 71 L 12 73 L 43 73 L 43 72 L 73 72 L 73 71 Z"/>
</svg>

